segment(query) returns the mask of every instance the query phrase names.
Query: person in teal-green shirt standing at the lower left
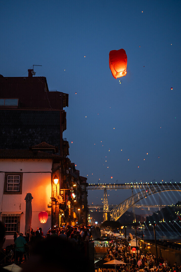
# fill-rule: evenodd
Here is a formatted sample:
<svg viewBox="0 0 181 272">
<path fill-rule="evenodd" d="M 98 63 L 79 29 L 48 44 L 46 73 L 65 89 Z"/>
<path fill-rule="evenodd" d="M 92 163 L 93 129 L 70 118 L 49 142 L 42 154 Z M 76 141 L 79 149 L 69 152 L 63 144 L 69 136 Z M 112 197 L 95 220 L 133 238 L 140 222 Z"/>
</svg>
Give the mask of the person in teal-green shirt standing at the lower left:
<svg viewBox="0 0 181 272">
<path fill-rule="evenodd" d="M 16 238 L 15 240 L 15 264 L 21 264 L 22 259 L 23 259 L 23 254 L 25 252 L 25 245 L 28 245 L 26 240 L 23 237 L 23 233 L 20 232 L 19 237 Z M 19 258 L 19 260 L 18 260 Z"/>
</svg>

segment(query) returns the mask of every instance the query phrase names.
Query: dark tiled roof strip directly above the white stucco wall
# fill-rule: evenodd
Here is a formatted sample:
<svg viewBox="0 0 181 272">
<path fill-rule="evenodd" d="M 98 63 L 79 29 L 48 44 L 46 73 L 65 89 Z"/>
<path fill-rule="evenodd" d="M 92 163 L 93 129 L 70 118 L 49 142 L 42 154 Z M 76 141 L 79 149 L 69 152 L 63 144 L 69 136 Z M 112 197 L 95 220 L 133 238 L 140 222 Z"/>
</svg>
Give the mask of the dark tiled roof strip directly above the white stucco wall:
<svg viewBox="0 0 181 272">
<path fill-rule="evenodd" d="M 0 159 L 62 159 L 63 157 L 42 151 L 0 149 Z"/>
</svg>

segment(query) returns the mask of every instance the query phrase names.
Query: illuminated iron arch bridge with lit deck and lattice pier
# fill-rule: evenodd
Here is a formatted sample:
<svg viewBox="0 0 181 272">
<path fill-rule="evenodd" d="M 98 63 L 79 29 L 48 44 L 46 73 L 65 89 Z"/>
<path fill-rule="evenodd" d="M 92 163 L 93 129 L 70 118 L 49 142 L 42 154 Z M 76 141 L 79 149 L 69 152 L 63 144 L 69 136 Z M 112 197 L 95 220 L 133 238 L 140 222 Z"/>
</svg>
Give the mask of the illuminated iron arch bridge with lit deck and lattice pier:
<svg viewBox="0 0 181 272">
<path fill-rule="evenodd" d="M 125 183 L 125 184 L 90 184 L 87 187 L 88 190 L 103 190 L 104 189 L 104 209 L 103 209 L 103 221 L 110 220 L 117 221 L 121 215 L 123 215 L 131 207 L 135 208 L 135 204 L 140 200 L 163 191 L 181 191 L 181 182 L 177 183 Z M 111 211 L 109 211 L 107 190 L 114 189 L 132 189 L 132 196 L 121 202 Z M 133 189 L 139 189 L 140 192 L 133 194 Z"/>
</svg>

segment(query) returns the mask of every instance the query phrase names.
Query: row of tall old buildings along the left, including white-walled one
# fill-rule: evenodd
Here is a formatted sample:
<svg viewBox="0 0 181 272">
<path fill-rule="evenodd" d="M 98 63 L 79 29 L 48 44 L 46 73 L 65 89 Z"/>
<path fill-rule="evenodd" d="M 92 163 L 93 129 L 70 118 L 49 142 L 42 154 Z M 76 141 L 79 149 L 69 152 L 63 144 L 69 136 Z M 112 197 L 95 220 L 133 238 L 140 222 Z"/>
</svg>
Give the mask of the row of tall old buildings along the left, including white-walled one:
<svg viewBox="0 0 181 272">
<path fill-rule="evenodd" d="M 35 230 L 41 225 L 46 234 L 53 225 L 86 224 L 87 220 L 86 178 L 79 176 L 67 157 L 69 144 L 63 138 L 66 129 L 63 108 L 68 107 L 68 94 L 49 91 L 46 78 L 33 77 L 32 71 L 28 70 L 28 77 L 0 75 L 0 186 L 3 192 L 0 220 L 8 222 L 6 230 L 11 238 L 13 231 L 23 231 L 27 193 L 33 197 L 32 227 Z M 73 186 L 75 181 L 77 187 Z M 57 202 L 58 195 L 62 196 L 62 203 Z M 48 212 L 46 224 L 38 220 L 40 211 Z M 5 218 L 6 212 L 18 213 L 12 215 L 13 218 L 18 216 L 18 221 L 14 223 L 9 215 Z"/>
</svg>

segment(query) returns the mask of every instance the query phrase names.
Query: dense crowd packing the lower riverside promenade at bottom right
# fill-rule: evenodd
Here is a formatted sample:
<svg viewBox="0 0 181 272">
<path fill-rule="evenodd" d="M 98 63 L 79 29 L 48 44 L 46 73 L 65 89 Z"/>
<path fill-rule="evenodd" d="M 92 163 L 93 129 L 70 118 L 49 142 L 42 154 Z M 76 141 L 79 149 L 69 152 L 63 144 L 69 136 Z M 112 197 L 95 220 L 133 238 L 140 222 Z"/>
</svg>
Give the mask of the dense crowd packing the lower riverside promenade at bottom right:
<svg viewBox="0 0 181 272">
<path fill-rule="evenodd" d="M 131 253 L 130 246 L 126 246 L 126 240 L 118 237 L 112 237 L 112 243 L 108 247 L 108 252 L 105 261 L 112 261 L 114 259 L 124 262 L 123 265 L 118 265 L 117 271 L 119 272 L 181 272 L 181 265 L 176 262 L 170 265 L 167 259 L 159 257 L 158 259 L 154 254 L 133 254 Z M 101 272 L 111 270 L 102 269 Z"/>
</svg>

